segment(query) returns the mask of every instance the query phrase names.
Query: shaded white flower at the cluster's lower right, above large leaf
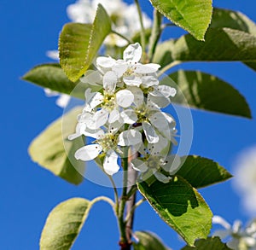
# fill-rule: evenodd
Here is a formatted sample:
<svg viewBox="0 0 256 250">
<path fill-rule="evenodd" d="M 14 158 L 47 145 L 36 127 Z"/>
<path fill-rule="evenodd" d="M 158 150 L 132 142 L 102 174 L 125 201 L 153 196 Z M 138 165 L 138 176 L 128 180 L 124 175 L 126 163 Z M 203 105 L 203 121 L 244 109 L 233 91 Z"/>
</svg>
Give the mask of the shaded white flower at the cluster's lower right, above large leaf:
<svg viewBox="0 0 256 250">
<path fill-rule="evenodd" d="M 143 180 L 154 174 L 160 182 L 168 183 L 178 169 L 181 167 L 181 160 L 178 155 L 168 154 L 170 144 L 166 138 L 160 136 L 157 143 L 148 143 L 139 149 L 141 156 L 131 160 L 131 166 L 142 172 Z M 167 176 L 166 176 L 167 175 Z"/>
</svg>

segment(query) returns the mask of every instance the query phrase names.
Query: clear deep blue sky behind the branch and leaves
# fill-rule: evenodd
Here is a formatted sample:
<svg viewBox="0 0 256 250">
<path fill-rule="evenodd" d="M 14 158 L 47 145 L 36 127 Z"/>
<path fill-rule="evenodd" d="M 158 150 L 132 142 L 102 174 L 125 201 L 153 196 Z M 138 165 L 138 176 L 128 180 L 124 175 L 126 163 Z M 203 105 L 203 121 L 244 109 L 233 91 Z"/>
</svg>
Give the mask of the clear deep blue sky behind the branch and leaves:
<svg viewBox="0 0 256 250">
<path fill-rule="evenodd" d="M 131 1 L 130 1 L 131 2 Z M 141 1 L 143 2 L 143 1 Z M 213 1 L 215 6 L 240 10 L 255 21 L 254 1 Z M 46 125 L 61 116 L 54 98 L 47 98 L 38 86 L 20 77 L 31 67 L 49 61 L 45 52 L 57 48 L 61 26 L 68 21 L 66 7 L 73 1 L 0 2 L 2 108 L 1 131 L 1 249 L 34 250 L 49 211 L 71 197 L 93 199 L 112 196 L 112 190 L 84 181 L 73 186 L 30 160 L 29 143 Z M 147 6 L 148 6 L 147 2 Z M 194 63 L 181 68 L 201 69 L 232 83 L 246 97 L 256 117 L 256 75 L 241 63 Z M 177 67 L 178 68 L 178 67 Z M 256 144 L 255 119 L 241 119 L 216 113 L 192 111 L 194 139 L 189 154 L 218 161 L 232 172 L 236 156 L 243 148 Z M 247 221 L 241 200 L 231 182 L 201 189 L 212 212 L 232 222 Z M 183 246 L 146 203 L 137 210 L 135 230 L 152 230 L 173 249 Z M 118 249 L 118 230 L 111 207 L 97 204 L 90 212 L 73 249 Z M 105 248 L 104 248 L 105 247 Z"/>
</svg>

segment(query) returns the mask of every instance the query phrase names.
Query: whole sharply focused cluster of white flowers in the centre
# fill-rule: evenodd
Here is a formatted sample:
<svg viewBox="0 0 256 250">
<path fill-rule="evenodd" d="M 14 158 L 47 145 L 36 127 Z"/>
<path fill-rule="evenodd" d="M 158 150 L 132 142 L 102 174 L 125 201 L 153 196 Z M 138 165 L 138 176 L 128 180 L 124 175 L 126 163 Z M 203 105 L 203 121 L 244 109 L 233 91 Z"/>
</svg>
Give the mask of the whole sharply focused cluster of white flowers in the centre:
<svg viewBox="0 0 256 250">
<path fill-rule="evenodd" d="M 142 64 L 142 47 L 131 44 L 124 50 L 123 59 L 100 56 L 97 71 L 90 71 L 81 82 L 97 86 L 85 91 L 85 105 L 78 117 L 73 139 L 84 135 L 96 139 L 75 153 L 78 160 L 93 160 L 102 155 L 103 169 L 109 175 L 119 171 L 118 158 L 124 147 L 136 148 L 140 157 L 132 161 L 143 177 L 153 175 L 163 183 L 168 175 L 177 172 L 179 160 L 163 153 L 175 143 L 175 120 L 160 108 L 170 104 L 176 90 L 160 85 L 157 70 L 160 65 Z M 168 151 L 168 150 L 167 150 Z"/>
</svg>

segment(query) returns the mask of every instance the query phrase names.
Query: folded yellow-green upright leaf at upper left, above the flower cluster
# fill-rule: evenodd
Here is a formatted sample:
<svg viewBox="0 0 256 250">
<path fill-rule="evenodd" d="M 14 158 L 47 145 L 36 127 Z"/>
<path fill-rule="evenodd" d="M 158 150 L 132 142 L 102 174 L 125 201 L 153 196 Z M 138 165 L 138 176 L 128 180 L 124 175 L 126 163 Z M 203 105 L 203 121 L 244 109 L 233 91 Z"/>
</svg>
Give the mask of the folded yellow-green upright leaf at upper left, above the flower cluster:
<svg viewBox="0 0 256 250">
<path fill-rule="evenodd" d="M 111 32 L 111 20 L 98 5 L 93 24 L 68 23 L 59 40 L 60 63 L 67 78 L 77 81 L 90 67 L 104 39 Z"/>
</svg>

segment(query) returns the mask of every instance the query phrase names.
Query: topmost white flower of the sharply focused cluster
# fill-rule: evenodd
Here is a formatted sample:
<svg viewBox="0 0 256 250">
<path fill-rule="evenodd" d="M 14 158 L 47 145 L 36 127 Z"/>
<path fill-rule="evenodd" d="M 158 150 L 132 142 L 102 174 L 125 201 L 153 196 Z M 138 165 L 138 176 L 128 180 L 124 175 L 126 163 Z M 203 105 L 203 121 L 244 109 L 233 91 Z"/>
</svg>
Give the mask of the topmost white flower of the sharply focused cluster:
<svg viewBox="0 0 256 250">
<path fill-rule="evenodd" d="M 155 73 L 160 65 L 139 63 L 142 53 L 143 49 L 140 44 L 131 44 L 124 50 L 123 60 L 115 61 L 111 57 L 100 56 L 96 59 L 96 66 L 103 73 L 111 68 L 129 86 L 139 87 L 142 85 L 142 87 L 148 88 L 159 84 Z"/>
</svg>

